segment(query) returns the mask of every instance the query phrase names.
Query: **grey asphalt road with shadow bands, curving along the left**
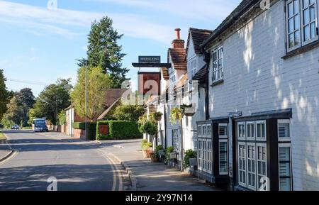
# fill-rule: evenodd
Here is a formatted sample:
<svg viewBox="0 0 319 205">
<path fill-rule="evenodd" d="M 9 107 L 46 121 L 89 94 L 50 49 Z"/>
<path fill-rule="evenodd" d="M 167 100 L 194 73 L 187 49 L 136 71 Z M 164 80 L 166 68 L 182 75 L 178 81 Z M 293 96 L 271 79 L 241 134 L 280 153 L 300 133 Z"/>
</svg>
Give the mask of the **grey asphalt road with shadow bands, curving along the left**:
<svg viewBox="0 0 319 205">
<path fill-rule="evenodd" d="M 123 187 L 116 163 L 99 145 L 53 138 L 32 131 L 4 131 L 16 154 L 0 162 L 0 190 L 118 191 Z M 52 178 L 53 177 L 53 178 Z M 55 178 L 54 178 L 55 177 Z"/>
</svg>

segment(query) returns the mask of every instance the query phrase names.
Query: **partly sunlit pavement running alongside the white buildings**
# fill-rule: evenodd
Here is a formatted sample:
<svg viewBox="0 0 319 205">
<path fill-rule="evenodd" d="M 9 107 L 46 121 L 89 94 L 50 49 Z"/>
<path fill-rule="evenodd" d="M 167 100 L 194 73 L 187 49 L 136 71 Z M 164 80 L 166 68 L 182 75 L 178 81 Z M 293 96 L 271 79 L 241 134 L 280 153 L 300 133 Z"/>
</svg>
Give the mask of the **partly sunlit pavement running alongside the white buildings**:
<svg viewBox="0 0 319 205">
<path fill-rule="evenodd" d="M 132 172 L 138 191 L 217 191 L 197 177 L 190 176 L 161 162 L 144 159 L 138 140 L 101 141 L 103 150 L 112 153 Z"/>
</svg>

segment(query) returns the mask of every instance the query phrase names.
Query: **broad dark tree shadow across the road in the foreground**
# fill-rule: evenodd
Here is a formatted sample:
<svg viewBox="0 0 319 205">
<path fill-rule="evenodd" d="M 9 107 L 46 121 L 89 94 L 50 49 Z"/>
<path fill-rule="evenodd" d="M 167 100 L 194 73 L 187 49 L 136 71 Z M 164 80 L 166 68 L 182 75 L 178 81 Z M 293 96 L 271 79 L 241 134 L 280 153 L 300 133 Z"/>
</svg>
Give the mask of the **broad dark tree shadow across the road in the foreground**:
<svg viewBox="0 0 319 205">
<path fill-rule="evenodd" d="M 37 165 L 1 168 L 0 191 L 46 191 L 47 179 L 57 178 L 57 190 L 111 190 L 113 172 L 110 165 Z"/>
</svg>

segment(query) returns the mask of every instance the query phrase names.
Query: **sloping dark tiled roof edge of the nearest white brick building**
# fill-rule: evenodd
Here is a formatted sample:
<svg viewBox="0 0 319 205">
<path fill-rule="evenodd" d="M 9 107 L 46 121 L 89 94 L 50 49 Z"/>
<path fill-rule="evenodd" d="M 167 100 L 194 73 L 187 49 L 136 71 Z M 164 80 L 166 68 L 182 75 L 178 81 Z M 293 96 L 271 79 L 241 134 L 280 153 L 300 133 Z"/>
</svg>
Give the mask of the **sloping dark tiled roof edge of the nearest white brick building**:
<svg viewBox="0 0 319 205">
<path fill-rule="evenodd" d="M 230 26 L 235 23 L 243 13 L 248 11 L 254 4 L 257 4 L 259 0 L 242 0 L 240 4 L 236 7 L 236 9 L 230 13 L 230 15 L 225 18 L 225 20 L 220 23 L 220 25 L 213 31 L 213 33 L 201 44 L 201 46 L 206 45 L 211 42 L 211 40 L 215 40 L 218 38 L 218 35 L 226 31 Z"/>
</svg>

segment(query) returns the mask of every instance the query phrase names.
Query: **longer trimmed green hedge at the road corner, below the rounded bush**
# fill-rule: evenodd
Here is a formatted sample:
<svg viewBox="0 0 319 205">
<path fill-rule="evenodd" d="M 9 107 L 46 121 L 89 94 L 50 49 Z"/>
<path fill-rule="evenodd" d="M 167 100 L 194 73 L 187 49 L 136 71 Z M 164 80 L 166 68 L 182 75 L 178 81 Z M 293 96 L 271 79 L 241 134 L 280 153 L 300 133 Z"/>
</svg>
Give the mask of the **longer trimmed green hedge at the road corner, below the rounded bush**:
<svg viewBox="0 0 319 205">
<path fill-rule="evenodd" d="M 108 125 L 108 135 L 99 134 L 99 125 Z M 98 121 L 96 123 L 97 140 L 123 140 L 128 138 L 142 138 L 137 123 L 129 121 Z"/>
</svg>

